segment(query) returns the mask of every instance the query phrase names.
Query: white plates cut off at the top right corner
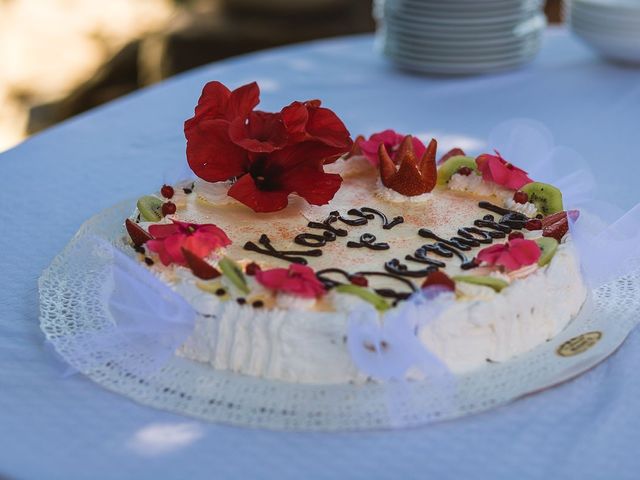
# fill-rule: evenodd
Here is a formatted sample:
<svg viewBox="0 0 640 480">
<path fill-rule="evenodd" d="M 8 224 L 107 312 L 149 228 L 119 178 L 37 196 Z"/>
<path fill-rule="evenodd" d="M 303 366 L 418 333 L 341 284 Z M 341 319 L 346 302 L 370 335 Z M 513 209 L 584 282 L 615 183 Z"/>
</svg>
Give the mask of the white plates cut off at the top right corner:
<svg viewBox="0 0 640 480">
<path fill-rule="evenodd" d="M 640 0 L 573 0 L 571 28 L 604 57 L 640 64 Z"/>
</svg>

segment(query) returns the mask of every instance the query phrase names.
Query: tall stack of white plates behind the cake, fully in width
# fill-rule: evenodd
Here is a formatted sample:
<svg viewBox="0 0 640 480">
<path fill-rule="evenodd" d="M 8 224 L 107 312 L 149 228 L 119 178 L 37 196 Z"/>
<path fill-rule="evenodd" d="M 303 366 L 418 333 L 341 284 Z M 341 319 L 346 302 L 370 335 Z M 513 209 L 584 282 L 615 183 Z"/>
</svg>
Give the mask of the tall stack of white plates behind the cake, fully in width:
<svg viewBox="0 0 640 480">
<path fill-rule="evenodd" d="M 378 0 L 378 47 L 396 65 L 465 75 L 523 65 L 538 53 L 543 0 Z"/>
</svg>

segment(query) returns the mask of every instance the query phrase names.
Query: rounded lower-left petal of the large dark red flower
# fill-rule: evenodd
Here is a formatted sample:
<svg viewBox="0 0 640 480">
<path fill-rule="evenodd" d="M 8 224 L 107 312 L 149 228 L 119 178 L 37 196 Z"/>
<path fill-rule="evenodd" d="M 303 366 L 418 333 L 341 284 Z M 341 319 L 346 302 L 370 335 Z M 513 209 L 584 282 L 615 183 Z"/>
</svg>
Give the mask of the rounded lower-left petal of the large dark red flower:
<svg viewBox="0 0 640 480">
<path fill-rule="evenodd" d="M 225 120 L 208 120 L 191 124 L 185 130 L 187 161 L 198 177 L 208 182 L 221 182 L 246 172 L 246 152 L 229 138 Z"/>
</svg>

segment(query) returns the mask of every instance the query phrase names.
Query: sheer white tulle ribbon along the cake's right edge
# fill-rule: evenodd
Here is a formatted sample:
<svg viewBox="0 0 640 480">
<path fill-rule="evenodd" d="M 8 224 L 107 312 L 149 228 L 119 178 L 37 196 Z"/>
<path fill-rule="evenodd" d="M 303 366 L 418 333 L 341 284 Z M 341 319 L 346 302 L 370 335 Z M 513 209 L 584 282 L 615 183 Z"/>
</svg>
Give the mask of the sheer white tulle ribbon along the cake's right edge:
<svg viewBox="0 0 640 480">
<path fill-rule="evenodd" d="M 489 145 L 534 180 L 558 187 L 565 210 L 580 212 L 577 219 L 569 217 L 569 229 L 591 288 L 638 268 L 640 204 L 625 212 L 595 200 L 595 175 L 576 151 L 556 146 L 543 124 L 528 119 L 498 125 L 490 134 Z"/>
</svg>

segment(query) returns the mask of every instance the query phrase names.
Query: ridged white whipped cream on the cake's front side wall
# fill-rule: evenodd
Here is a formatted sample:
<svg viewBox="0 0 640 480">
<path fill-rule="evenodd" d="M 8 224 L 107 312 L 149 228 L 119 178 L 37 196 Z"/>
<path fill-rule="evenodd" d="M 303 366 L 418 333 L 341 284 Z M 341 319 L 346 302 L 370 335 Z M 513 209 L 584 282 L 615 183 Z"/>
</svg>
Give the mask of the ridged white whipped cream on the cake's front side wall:
<svg viewBox="0 0 640 480">
<path fill-rule="evenodd" d="M 561 245 L 549 265 L 500 293 L 462 282 L 456 288 L 458 300 L 419 332 L 426 348 L 454 373 L 506 361 L 554 337 L 578 314 L 587 296 L 570 244 Z M 353 296 L 340 297 L 346 309 L 362 304 Z M 207 310 L 214 316 L 198 317 L 180 355 L 272 380 L 311 384 L 366 380 L 346 348 L 345 310 L 256 311 L 209 298 Z"/>
</svg>

